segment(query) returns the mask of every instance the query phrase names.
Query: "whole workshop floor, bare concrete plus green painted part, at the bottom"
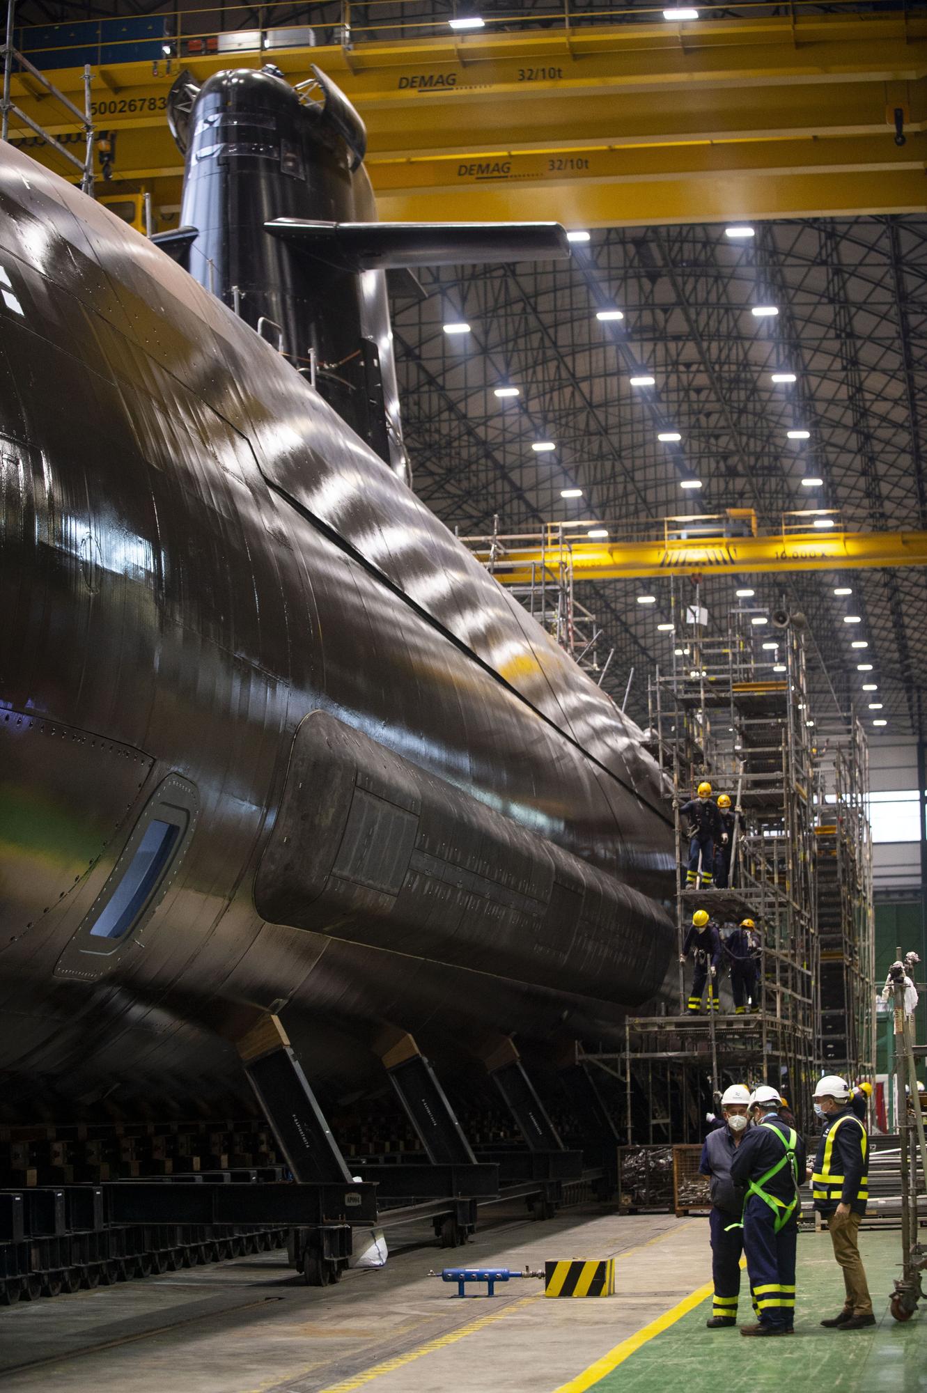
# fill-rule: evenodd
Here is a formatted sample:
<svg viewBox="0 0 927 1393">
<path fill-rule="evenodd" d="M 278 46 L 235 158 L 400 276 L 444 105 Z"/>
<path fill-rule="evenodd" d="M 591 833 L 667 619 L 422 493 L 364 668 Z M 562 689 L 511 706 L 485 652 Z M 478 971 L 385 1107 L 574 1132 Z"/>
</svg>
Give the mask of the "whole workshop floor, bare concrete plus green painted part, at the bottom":
<svg viewBox="0 0 927 1393">
<path fill-rule="evenodd" d="M 4 1393 L 686 1393 L 827 1386 L 927 1393 L 923 1321 L 887 1312 L 896 1233 L 863 1236 L 880 1316 L 874 1330 L 832 1334 L 817 1325 L 839 1308 L 842 1283 L 827 1234 L 799 1241 L 799 1334 L 760 1360 L 736 1330 L 708 1332 L 707 1223 L 668 1215 L 569 1211 L 547 1223 L 511 1217 L 465 1250 L 419 1245 L 423 1230 L 391 1234 L 386 1269 L 349 1272 L 337 1287 L 306 1287 L 283 1254 L 19 1304 L 0 1314 Z M 617 1256 L 617 1294 L 546 1300 L 540 1282 L 511 1282 L 491 1301 L 458 1300 L 430 1268 L 543 1268 L 554 1258 Z M 682 1307 L 682 1311 L 676 1309 Z M 749 1309 L 749 1308 L 747 1308 Z M 653 1339 L 649 1326 L 675 1319 Z M 667 1323 L 667 1322 L 661 1322 Z M 837 1358 L 835 1358 L 837 1355 Z M 795 1365 L 793 1371 L 791 1365 Z"/>
</svg>

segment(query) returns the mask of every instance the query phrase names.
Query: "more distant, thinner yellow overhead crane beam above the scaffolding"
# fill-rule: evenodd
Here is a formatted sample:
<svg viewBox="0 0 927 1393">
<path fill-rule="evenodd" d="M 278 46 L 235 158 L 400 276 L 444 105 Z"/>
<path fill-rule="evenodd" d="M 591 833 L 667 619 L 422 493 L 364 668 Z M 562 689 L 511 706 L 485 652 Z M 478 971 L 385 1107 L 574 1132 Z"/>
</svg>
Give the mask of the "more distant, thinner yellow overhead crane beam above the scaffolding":
<svg viewBox="0 0 927 1393">
<path fill-rule="evenodd" d="M 605 535 L 601 535 L 605 534 Z M 927 566 L 927 532 L 855 532 L 839 513 L 784 513 L 763 527 L 753 508 L 644 522 L 548 522 L 543 532 L 465 536 L 501 585 L 650 579 L 761 571 Z"/>
</svg>

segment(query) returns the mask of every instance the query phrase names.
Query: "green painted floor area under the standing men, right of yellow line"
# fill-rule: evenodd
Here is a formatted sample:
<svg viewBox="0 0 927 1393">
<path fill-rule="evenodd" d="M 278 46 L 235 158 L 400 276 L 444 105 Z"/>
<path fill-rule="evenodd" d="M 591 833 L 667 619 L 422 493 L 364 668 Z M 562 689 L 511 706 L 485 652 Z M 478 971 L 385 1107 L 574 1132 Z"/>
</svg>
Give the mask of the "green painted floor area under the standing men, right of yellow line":
<svg viewBox="0 0 927 1393">
<path fill-rule="evenodd" d="M 745 1340 L 738 1329 L 707 1330 L 710 1298 L 642 1346 L 594 1393 L 920 1393 L 927 1390 L 927 1305 L 906 1325 L 888 1314 L 899 1275 L 901 1234 L 862 1233 L 877 1325 L 839 1334 L 818 1321 L 843 1304 L 843 1280 L 827 1234 L 802 1234 L 798 1251 L 798 1307 L 792 1339 Z M 746 1272 L 740 1305 L 749 1293 Z M 749 1298 L 747 1323 L 752 1319 Z"/>
</svg>

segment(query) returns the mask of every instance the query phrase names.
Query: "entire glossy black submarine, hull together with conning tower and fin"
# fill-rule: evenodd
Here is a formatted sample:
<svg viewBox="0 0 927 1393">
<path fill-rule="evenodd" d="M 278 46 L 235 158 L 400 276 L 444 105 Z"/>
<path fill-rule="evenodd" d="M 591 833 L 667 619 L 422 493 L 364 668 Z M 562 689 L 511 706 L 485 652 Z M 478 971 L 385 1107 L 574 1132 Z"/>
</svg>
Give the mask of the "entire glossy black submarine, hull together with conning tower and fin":
<svg viewBox="0 0 927 1393">
<path fill-rule="evenodd" d="M 322 74 L 175 84 L 154 245 L 0 148 L 0 1120 L 248 1096 L 383 1027 L 614 1039 L 675 932 L 637 727 L 405 482 L 386 274 L 568 254 L 376 221 Z"/>
</svg>

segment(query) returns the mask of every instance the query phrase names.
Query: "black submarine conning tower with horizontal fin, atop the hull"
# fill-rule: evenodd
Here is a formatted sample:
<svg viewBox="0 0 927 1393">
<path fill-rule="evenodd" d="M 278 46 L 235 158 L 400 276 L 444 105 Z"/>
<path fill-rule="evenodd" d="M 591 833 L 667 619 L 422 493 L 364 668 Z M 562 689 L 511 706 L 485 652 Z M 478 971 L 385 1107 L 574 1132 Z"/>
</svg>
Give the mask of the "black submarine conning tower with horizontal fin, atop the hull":
<svg viewBox="0 0 927 1393">
<path fill-rule="evenodd" d="M 153 238 L 305 373 L 408 481 L 387 270 L 569 256 L 558 223 L 380 223 L 366 130 L 319 68 L 187 71 L 167 116 L 181 226 Z"/>
</svg>

